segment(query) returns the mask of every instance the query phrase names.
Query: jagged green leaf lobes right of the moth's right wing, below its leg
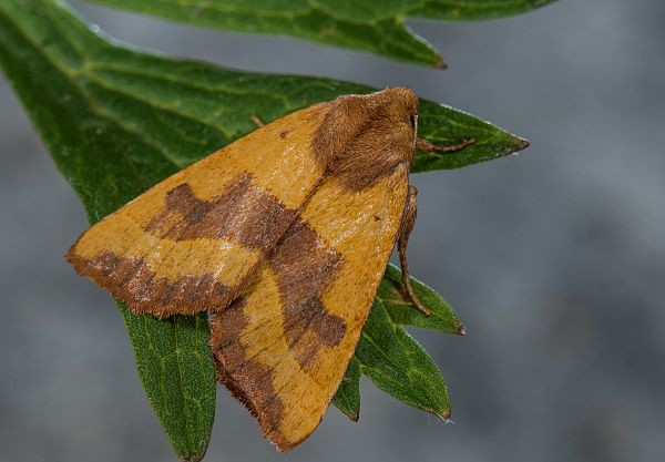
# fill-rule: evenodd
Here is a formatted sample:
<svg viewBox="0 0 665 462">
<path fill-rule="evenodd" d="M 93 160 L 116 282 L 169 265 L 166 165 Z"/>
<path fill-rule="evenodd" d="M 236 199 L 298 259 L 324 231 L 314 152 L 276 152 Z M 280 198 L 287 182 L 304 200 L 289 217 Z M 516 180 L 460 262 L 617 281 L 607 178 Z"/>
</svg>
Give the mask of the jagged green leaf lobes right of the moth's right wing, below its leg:
<svg viewBox="0 0 665 462">
<path fill-rule="evenodd" d="M 430 316 L 419 311 L 406 294 L 400 269 L 388 265 L 354 359 L 332 400 L 351 420 L 357 421 L 360 415 L 361 374 L 413 408 L 441 419 L 450 418 L 448 389 L 441 372 L 403 327 L 464 335 L 464 326 L 439 294 L 415 278 L 411 285 L 420 301 L 431 310 Z"/>
</svg>

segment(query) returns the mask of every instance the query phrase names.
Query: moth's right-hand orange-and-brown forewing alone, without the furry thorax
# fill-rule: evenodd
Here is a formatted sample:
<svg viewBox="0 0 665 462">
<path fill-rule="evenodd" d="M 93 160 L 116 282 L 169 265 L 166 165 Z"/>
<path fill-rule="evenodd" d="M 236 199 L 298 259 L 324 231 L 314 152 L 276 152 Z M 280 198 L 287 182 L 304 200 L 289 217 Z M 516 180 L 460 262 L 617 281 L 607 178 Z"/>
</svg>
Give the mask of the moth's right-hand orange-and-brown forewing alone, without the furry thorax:
<svg viewBox="0 0 665 462">
<path fill-rule="evenodd" d="M 407 175 L 400 165 L 351 192 L 327 177 L 243 298 L 212 319 L 221 380 L 282 450 L 316 429 L 354 355 L 395 245 Z"/>
</svg>

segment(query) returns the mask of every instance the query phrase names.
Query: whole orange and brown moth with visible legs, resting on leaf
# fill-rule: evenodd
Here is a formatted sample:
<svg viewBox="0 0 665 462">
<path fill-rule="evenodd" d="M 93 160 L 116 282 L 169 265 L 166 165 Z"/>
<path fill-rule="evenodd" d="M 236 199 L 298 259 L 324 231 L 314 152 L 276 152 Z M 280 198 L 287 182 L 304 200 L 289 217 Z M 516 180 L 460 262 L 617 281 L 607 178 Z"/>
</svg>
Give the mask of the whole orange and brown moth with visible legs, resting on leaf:
<svg viewBox="0 0 665 462">
<path fill-rule="evenodd" d="M 160 318 L 208 311 L 217 374 L 280 450 L 317 428 L 398 245 L 403 286 L 418 99 L 344 95 L 262 126 L 79 237 L 74 269 Z M 405 308 L 408 309 L 408 308 Z"/>
</svg>

